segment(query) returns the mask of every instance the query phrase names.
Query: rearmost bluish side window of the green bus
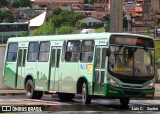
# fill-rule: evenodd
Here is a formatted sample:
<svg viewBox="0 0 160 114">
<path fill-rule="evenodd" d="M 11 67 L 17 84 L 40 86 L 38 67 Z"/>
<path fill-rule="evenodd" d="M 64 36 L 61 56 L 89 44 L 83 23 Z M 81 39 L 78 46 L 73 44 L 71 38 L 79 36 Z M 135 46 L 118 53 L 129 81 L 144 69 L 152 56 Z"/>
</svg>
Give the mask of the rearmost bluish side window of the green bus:
<svg viewBox="0 0 160 114">
<path fill-rule="evenodd" d="M 18 43 L 10 43 L 8 45 L 7 61 L 15 62 L 17 59 Z"/>
</svg>

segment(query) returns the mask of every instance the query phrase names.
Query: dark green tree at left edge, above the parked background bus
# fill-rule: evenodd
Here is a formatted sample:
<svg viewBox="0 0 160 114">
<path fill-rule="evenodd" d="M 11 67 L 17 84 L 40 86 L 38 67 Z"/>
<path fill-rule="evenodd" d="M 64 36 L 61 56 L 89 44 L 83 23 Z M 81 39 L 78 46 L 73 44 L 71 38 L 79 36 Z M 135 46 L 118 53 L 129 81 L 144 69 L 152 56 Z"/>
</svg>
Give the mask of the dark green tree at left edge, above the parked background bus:
<svg viewBox="0 0 160 114">
<path fill-rule="evenodd" d="M 6 8 L 0 9 L 0 23 L 2 22 L 14 22 L 13 13 Z"/>
</svg>

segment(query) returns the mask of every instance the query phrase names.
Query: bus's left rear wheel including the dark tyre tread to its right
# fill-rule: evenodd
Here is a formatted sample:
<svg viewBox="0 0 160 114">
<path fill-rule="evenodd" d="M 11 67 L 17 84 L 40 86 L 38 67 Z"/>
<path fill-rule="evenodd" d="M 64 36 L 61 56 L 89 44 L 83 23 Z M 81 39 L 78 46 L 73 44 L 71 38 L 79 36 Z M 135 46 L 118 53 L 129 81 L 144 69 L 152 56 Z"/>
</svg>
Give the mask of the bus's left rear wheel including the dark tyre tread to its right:
<svg viewBox="0 0 160 114">
<path fill-rule="evenodd" d="M 29 79 L 26 83 L 26 97 L 29 99 L 40 99 L 43 96 L 43 91 L 34 91 L 33 81 Z"/>
</svg>

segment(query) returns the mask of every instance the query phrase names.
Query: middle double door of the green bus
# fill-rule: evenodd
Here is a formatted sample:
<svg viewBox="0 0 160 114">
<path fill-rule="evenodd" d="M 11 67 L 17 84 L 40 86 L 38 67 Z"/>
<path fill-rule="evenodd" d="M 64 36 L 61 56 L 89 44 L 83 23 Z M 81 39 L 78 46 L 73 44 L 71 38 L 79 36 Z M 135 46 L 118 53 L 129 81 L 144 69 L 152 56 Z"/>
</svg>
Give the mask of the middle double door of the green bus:
<svg viewBox="0 0 160 114">
<path fill-rule="evenodd" d="M 50 61 L 49 90 L 58 91 L 59 85 L 59 60 L 61 47 L 52 47 Z"/>
</svg>

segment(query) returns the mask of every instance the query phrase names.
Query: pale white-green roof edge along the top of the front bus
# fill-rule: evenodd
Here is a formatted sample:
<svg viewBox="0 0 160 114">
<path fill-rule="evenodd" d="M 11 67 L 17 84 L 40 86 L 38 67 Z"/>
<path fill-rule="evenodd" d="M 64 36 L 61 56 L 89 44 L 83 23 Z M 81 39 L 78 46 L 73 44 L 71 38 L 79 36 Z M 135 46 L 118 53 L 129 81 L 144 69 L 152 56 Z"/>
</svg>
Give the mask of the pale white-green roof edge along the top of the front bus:
<svg viewBox="0 0 160 114">
<path fill-rule="evenodd" d="M 26 42 L 26 41 L 52 41 L 52 40 L 89 40 L 89 39 L 109 39 L 111 35 L 132 35 L 153 39 L 152 37 L 130 34 L 130 33 L 91 33 L 91 34 L 67 34 L 67 35 L 46 35 L 46 36 L 27 36 L 27 37 L 12 37 L 8 42 Z"/>
</svg>

